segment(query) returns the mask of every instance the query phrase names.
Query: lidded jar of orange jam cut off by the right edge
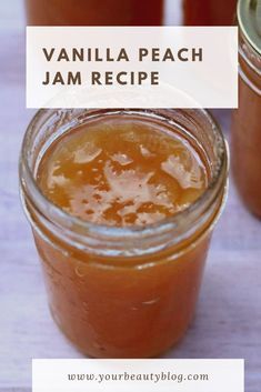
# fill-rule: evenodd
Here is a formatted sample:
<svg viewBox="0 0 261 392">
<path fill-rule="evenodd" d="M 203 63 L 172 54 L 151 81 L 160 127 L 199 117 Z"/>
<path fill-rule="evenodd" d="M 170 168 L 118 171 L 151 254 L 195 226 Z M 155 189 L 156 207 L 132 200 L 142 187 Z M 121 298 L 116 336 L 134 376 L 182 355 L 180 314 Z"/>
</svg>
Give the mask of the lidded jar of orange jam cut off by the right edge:
<svg viewBox="0 0 261 392">
<path fill-rule="evenodd" d="M 239 1 L 239 109 L 234 110 L 231 158 L 245 205 L 261 218 L 261 0 Z"/>
</svg>

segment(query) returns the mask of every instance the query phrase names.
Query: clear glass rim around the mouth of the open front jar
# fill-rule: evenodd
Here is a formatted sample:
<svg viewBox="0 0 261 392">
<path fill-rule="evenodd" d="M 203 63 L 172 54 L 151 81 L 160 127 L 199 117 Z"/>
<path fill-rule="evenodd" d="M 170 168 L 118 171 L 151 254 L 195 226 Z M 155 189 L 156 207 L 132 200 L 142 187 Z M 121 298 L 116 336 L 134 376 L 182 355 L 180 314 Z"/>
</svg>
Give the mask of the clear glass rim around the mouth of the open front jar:
<svg viewBox="0 0 261 392">
<path fill-rule="evenodd" d="M 148 110 L 148 109 L 122 109 L 123 111 L 128 111 L 130 114 L 140 114 L 142 115 L 158 115 L 154 114 L 157 110 Z M 110 111 L 110 113 L 122 113 L 122 110 L 114 110 Z M 185 111 L 184 109 L 177 109 L 178 111 Z M 107 111 L 107 110 L 104 110 Z M 164 109 L 164 111 L 170 111 L 172 112 L 173 109 Z M 217 162 L 217 170 L 214 170 L 213 177 L 211 181 L 209 182 L 207 189 L 202 192 L 202 194 L 194 201 L 192 202 L 189 207 L 185 209 L 174 213 L 171 217 L 164 218 L 155 223 L 150 223 L 147 225 L 130 225 L 130 227 L 111 227 L 111 225 L 104 225 L 104 224 L 98 224 L 93 223 L 90 221 L 84 221 L 80 218 L 77 218 L 58 205 L 56 205 L 52 201 L 50 201 L 41 191 L 40 187 L 38 185 L 36 178 L 33 175 L 32 170 L 30 169 L 29 160 L 28 160 L 28 148 L 30 145 L 30 140 L 34 130 L 34 125 L 38 123 L 38 121 L 41 119 L 42 115 L 44 115 L 48 112 L 56 112 L 54 109 L 40 109 L 37 111 L 37 113 L 33 115 L 32 120 L 30 121 L 24 138 L 22 142 L 22 148 L 21 148 L 21 154 L 20 154 L 20 163 L 19 163 L 19 174 L 20 174 L 20 189 L 22 193 L 26 193 L 26 189 L 31 187 L 33 193 L 33 199 L 38 200 L 38 209 L 40 208 L 41 211 L 44 211 L 44 213 L 50 213 L 52 217 L 54 217 L 54 220 L 60 222 L 60 224 L 64 224 L 64 227 L 69 231 L 74 231 L 76 228 L 77 234 L 78 235 L 90 235 L 93 234 L 94 237 L 97 235 L 102 235 L 106 239 L 112 239 L 112 240 L 119 240 L 119 239 L 140 239 L 140 238 L 145 238 L 145 237 L 154 237 L 154 235 L 160 235 L 165 232 L 169 232 L 171 229 L 179 228 L 183 222 L 189 220 L 189 217 L 193 213 L 197 212 L 200 208 L 207 203 L 208 205 L 211 204 L 211 202 L 214 200 L 215 195 L 219 194 L 219 192 L 223 189 L 224 181 L 227 181 L 227 174 L 228 174 L 228 145 L 225 142 L 225 139 L 223 137 L 223 133 L 214 120 L 214 118 L 210 114 L 210 112 L 205 109 L 191 109 L 187 110 L 188 112 L 193 112 L 197 111 L 198 113 L 202 114 L 211 125 L 211 130 L 214 133 L 214 137 L 217 139 L 217 142 L 219 144 L 218 149 L 218 162 Z M 162 118 L 162 113 L 161 113 Z M 223 175 L 223 181 L 220 182 L 220 178 Z M 217 189 L 218 187 L 218 189 Z M 215 190 L 215 192 L 213 192 Z"/>
</svg>

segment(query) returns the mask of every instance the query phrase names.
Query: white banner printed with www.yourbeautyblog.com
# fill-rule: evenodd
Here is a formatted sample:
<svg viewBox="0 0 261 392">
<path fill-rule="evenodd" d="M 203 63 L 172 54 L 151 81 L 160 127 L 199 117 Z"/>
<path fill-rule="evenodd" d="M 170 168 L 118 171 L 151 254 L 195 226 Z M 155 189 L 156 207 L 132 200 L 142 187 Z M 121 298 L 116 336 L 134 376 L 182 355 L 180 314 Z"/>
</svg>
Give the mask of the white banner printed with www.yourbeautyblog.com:
<svg viewBox="0 0 261 392">
<path fill-rule="evenodd" d="M 244 392 L 243 360 L 32 360 L 32 392 Z"/>
</svg>

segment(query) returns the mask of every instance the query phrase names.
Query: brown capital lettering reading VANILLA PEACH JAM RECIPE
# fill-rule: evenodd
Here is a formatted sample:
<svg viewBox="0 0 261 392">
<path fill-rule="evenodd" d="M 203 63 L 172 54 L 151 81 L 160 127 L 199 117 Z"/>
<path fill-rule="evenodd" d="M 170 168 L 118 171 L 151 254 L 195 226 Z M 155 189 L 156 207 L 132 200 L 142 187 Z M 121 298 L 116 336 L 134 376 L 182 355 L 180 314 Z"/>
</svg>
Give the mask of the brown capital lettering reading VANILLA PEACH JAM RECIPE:
<svg viewBox="0 0 261 392">
<path fill-rule="evenodd" d="M 138 48 L 137 58 L 131 59 L 131 56 L 124 48 L 119 50 L 112 50 L 106 48 L 101 50 L 99 48 L 72 48 L 68 51 L 66 48 L 41 48 L 42 53 L 47 62 L 202 62 L 203 50 L 202 48 L 180 48 L 173 50 L 165 48 Z M 43 86 L 141 86 L 141 84 L 160 84 L 160 72 L 159 71 L 104 71 L 92 70 L 87 74 L 84 80 L 82 72 L 80 71 L 67 71 L 62 73 L 60 71 L 50 72 L 46 71 Z"/>
</svg>

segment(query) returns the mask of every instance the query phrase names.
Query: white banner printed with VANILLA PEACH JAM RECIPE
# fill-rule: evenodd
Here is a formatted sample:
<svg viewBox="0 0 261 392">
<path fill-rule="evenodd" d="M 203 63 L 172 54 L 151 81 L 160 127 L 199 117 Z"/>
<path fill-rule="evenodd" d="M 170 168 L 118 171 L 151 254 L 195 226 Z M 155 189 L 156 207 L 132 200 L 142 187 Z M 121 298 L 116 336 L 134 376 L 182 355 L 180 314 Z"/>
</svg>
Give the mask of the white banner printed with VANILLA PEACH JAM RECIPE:
<svg viewBox="0 0 261 392">
<path fill-rule="evenodd" d="M 235 27 L 28 27 L 28 108 L 235 108 Z"/>
</svg>

